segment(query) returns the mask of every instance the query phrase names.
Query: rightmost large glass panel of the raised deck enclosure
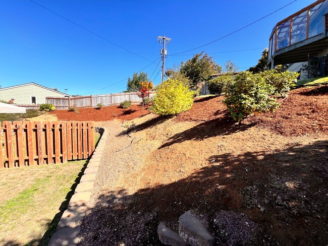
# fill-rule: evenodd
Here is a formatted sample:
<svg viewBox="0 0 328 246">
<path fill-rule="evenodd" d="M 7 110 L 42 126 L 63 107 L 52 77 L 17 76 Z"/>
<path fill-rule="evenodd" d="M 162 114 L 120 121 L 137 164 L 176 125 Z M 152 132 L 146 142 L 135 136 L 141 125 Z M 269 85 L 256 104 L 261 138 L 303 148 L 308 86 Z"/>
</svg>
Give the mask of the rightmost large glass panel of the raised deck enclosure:
<svg viewBox="0 0 328 246">
<path fill-rule="evenodd" d="M 323 15 L 327 13 L 328 1 L 324 1 L 310 9 L 309 13 L 309 38 L 323 32 Z"/>
</svg>

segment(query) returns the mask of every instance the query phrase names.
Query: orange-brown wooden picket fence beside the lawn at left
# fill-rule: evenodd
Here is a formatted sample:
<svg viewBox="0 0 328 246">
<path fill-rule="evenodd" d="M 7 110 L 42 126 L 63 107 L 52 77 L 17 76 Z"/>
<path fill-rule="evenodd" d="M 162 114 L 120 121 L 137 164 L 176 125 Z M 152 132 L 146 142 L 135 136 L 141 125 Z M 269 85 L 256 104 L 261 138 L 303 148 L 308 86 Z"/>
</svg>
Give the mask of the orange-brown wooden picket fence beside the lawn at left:
<svg viewBox="0 0 328 246">
<path fill-rule="evenodd" d="M 87 159 L 95 147 L 91 121 L 4 121 L 0 169 Z"/>
</svg>

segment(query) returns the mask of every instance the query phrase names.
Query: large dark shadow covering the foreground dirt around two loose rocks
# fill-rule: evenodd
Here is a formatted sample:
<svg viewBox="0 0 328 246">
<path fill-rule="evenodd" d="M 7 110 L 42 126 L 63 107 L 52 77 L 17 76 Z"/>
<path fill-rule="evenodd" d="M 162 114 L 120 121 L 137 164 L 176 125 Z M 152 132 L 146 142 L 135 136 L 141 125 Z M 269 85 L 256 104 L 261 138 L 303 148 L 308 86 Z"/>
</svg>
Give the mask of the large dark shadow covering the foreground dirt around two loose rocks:
<svg viewBox="0 0 328 246">
<path fill-rule="evenodd" d="M 284 151 L 213 155 L 207 166 L 169 184 L 134 194 L 103 191 L 84 218 L 79 245 L 160 245 L 159 222 L 177 229 L 179 216 L 191 208 L 211 218 L 214 233 L 218 212 L 238 211 L 281 245 L 326 245 L 327 153 L 328 141 L 317 141 Z M 256 245 L 277 245 L 263 238 Z"/>
</svg>

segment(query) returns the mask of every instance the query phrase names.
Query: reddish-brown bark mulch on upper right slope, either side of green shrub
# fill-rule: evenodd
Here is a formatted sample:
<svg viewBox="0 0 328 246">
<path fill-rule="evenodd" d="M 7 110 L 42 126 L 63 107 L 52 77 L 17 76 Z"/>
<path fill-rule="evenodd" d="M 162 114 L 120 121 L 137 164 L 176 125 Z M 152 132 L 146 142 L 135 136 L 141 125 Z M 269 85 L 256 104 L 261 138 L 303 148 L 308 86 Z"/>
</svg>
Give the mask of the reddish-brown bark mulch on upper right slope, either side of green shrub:
<svg viewBox="0 0 328 246">
<path fill-rule="evenodd" d="M 195 99 L 194 106 L 177 116 L 176 121 L 212 121 L 216 125 L 231 124 L 223 96 Z M 328 86 L 300 88 L 278 99 L 280 107 L 273 113 L 255 114 L 243 121 L 284 136 L 328 134 Z M 214 120 L 220 118 L 220 120 Z"/>
</svg>

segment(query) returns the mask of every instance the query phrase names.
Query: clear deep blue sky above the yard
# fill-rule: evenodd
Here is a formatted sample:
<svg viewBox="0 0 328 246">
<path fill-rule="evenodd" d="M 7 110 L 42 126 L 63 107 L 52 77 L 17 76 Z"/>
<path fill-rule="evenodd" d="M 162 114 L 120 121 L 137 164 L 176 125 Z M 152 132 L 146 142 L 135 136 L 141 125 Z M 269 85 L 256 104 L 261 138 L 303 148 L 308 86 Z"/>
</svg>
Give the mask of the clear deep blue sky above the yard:
<svg viewBox="0 0 328 246">
<path fill-rule="evenodd" d="M 0 85 L 35 82 L 69 94 L 116 93 L 127 77 L 159 58 L 157 36 L 172 38 L 168 54 L 203 45 L 229 34 L 293 0 L 33 0 L 78 25 L 144 58 L 127 52 L 29 0 L 0 1 Z M 274 25 L 315 1 L 298 0 L 231 36 L 169 56 L 166 68 L 205 51 L 216 63 L 231 59 L 246 70 L 254 66 Z M 252 49 L 240 52 L 235 50 Z M 150 60 L 150 61 L 149 61 Z M 144 72 L 154 79 L 157 60 Z M 124 80 L 124 81 L 122 81 Z M 120 82 L 122 81 L 122 82 Z"/>
</svg>

